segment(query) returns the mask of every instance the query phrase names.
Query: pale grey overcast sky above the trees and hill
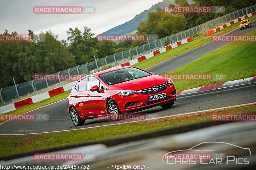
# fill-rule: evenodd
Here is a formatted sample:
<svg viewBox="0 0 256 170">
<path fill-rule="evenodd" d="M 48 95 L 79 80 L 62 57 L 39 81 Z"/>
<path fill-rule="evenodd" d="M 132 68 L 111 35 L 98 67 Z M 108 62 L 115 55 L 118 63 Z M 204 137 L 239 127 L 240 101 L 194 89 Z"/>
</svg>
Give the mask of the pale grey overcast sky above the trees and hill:
<svg viewBox="0 0 256 170">
<path fill-rule="evenodd" d="M 27 34 L 31 29 L 52 30 L 59 40 L 67 39 L 69 27 L 83 26 L 95 35 L 131 20 L 135 15 L 163 0 L 0 0 L 0 33 L 17 31 Z M 34 6 L 94 6 L 94 14 L 34 14 Z"/>
</svg>

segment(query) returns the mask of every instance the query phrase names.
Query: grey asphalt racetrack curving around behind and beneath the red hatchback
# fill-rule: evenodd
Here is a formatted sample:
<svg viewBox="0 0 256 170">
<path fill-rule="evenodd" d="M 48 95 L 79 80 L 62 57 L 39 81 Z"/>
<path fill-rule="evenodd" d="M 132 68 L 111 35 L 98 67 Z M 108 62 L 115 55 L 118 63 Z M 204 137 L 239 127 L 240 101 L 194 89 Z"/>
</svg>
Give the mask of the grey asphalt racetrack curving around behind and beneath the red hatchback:
<svg viewBox="0 0 256 170">
<path fill-rule="evenodd" d="M 247 34 L 256 29 L 256 21 L 252 22 L 252 27 L 240 30 L 239 28 L 229 34 Z M 209 42 L 189 52 L 173 57 L 162 63 L 156 64 L 146 70 L 154 72 L 157 75 L 163 75 L 166 72 L 175 70 L 183 65 L 191 63 L 204 55 L 211 53 L 228 42 Z M 241 85 L 236 87 L 223 88 L 207 92 L 200 92 L 188 95 L 180 95 L 173 107 L 163 109 L 154 107 L 137 113 L 145 113 L 147 117 L 163 117 L 168 115 L 177 115 L 195 111 L 203 111 L 220 107 L 235 106 L 256 102 L 256 83 Z M 38 108 L 29 113 L 40 114 L 47 113 L 48 121 L 7 121 L 0 125 L 0 134 L 30 134 L 54 132 L 61 130 L 81 129 L 88 127 L 104 126 L 117 124 L 124 121 L 103 122 L 96 119 L 88 119 L 83 126 L 76 127 L 68 115 L 68 101 L 61 100 L 45 107 Z"/>
</svg>

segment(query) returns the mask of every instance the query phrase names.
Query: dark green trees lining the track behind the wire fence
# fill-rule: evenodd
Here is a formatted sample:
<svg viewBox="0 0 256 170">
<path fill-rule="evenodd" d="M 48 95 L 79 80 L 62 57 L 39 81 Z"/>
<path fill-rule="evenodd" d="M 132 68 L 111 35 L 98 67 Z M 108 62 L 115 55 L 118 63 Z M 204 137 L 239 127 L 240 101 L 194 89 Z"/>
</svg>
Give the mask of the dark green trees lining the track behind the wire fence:
<svg viewBox="0 0 256 170">
<path fill-rule="evenodd" d="M 175 4 L 187 6 L 187 0 L 175 0 Z M 169 14 L 158 8 L 148 13 L 146 21 L 141 21 L 137 27 L 138 34 L 158 34 L 159 38 L 184 31 L 200 25 L 213 18 L 218 18 L 232 11 L 256 4 L 256 0 L 193 0 L 190 5 L 225 6 L 223 14 Z M 173 5 L 173 4 L 170 4 Z M 9 33 L 5 30 L 5 35 Z M 28 30 L 28 34 L 33 31 Z M 67 40 L 58 40 L 51 30 L 46 33 L 44 42 L 2 42 L 0 41 L 0 87 L 33 79 L 35 73 L 56 73 L 79 64 L 84 64 L 96 58 L 112 55 L 145 42 L 99 42 L 87 26 L 83 30 L 69 28 Z"/>
</svg>

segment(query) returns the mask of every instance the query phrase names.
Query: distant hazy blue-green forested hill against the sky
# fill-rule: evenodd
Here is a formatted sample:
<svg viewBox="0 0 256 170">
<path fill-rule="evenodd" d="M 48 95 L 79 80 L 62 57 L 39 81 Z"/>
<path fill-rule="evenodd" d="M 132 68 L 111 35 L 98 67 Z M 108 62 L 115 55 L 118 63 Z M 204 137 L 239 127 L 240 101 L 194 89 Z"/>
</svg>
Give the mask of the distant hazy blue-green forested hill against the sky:
<svg viewBox="0 0 256 170">
<path fill-rule="evenodd" d="M 131 33 L 132 31 L 137 29 L 137 26 L 139 26 L 140 21 L 145 21 L 148 17 L 148 12 L 156 11 L 157 7 L 163 8 L 163 6 L 174 4 L 174 0 L 164 0 L 162 2 L 159 2 L 155 5 L 153 5 L 148 10 L 145 10 L 141 12 L 140 14 L 136 15 L 133 19 L 131 19 L 128 22 L 125 22 L 124 24 L 121 24 L 119 26 L 116 26 L 114 28 L 111 28 L 110 30 L 102 33 L 102 34 L 124 34 L 124 33 Z"/>
</svg>

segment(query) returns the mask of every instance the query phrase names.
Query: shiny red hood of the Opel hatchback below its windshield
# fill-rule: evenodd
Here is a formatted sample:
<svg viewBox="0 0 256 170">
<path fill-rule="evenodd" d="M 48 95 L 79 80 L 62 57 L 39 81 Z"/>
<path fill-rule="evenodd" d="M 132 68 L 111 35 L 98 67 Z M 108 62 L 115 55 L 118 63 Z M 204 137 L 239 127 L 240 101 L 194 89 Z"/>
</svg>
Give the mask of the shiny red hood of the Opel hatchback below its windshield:
<svg viewBox="0 0 256 170">
<path fill-rule="evenodd" d="M 129 80 L 123 83 L 118 83 L 116 85 L 108 86 L 109 90 L 141 90 L 148 87 L 162 85 L 167 83 L 168 78 L 164 78 L 157 75 L 137 78 L 134 80 Z"/>
</svg>

